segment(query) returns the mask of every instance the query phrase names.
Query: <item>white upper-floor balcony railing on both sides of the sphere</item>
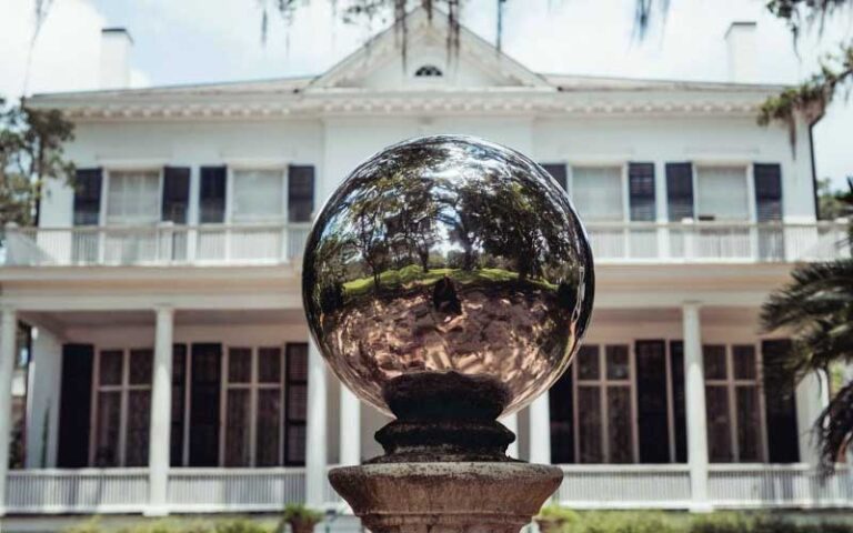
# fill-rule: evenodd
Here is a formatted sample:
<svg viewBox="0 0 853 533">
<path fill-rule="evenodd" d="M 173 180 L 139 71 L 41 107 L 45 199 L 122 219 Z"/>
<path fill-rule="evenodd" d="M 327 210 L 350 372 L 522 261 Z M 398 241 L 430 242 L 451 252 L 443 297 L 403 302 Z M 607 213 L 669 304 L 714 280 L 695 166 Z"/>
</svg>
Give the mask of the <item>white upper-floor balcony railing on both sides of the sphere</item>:
<svg viewBox="0 0 853 533">
<path fill-rule="evenodd" d="M 599 264 L 769 263 L 850 255 L 843 221 L 593 223 Z M 283 264 L 302 255 L 309 223 L 6 229 L 3 265 Z"/>
</svg>

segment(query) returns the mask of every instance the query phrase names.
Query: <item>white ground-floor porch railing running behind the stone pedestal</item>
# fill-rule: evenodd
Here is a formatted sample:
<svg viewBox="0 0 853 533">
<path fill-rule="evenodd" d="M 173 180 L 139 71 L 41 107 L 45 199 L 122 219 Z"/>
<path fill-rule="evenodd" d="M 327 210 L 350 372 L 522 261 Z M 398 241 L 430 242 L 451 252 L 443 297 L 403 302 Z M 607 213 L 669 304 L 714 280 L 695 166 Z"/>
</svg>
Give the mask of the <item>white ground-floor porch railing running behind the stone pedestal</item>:
<svg viewBox="0 0 853 533">
<path fill-rule="evenodd" d="M 684 464 L 562 465 L 554 501 L 572 509 L 689 509 Z M 305 470 L 172 469 L 170 513 L 278 512 L 303 502 Z M 342 502 L 327 483 L 327 506 Z M 806 464 L 712 464 L 708 504 L 714 509 L 853 509 L 853 471 L 822 476 Z M 7 514 L 143 513 L 145 469 L 23 470 L 9 473 Z M 3 511 L 3 510 L 0 510 Z M 163 511 L 160 509 L 160 511 Z"/>
</svg>

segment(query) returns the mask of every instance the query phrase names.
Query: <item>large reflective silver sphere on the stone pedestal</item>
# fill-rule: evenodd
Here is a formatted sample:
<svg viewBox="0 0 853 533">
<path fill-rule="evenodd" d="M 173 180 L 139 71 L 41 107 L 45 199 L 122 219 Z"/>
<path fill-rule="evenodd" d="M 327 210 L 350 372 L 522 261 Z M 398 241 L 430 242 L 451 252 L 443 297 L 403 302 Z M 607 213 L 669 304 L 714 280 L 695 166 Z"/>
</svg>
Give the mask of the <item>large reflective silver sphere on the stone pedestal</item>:
<svg viewBox="0 0 853 533">
<path fill-rule="evenodd" d="M 450 374 L 491 381 L 503 415 L 522 409 L 569 366 L 594 288 L 586 234 L 551 175 L 455 135 L 357 168 L 319 214 L 302 275 L 323 356 L 385 413 L 394 382 Z"/>
</svg>

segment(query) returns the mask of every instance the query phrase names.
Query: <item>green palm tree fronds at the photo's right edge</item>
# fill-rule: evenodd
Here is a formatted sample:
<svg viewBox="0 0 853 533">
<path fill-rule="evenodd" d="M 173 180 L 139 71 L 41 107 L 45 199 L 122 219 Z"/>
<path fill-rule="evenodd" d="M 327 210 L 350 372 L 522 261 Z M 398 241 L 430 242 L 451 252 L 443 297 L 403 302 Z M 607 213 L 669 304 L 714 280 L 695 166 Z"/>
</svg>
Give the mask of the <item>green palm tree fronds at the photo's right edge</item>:
<svg viewBox="0 0 853 533">
<path fill-rule="evenodd" d="M 853 213 L 853 179 L 847 181 L 850 192 L 843 200 Z M 853 245 L 853 221 L 845 241 L 840 245 Z M 762 308 L 766 332 L 784 330 L 792 335 L 787 356 L 767 362 L 765 372 L 780 383 L 796 383 L 812 372 L 829 374 L 833 365 L 853 364 L 853 255 L 797 266 L 791 276 Z M 814 423 L 826 472 L 844 462 L 853 445 L 853 381 L 832 393 Z"/>
</svg>

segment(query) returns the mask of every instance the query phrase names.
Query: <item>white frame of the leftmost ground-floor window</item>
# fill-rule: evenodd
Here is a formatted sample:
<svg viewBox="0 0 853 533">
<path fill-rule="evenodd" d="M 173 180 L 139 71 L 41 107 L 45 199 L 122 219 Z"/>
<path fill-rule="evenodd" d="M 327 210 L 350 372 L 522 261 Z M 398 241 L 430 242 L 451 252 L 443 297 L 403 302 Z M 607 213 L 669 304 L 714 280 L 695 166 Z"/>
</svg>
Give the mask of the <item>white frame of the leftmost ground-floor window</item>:
<svg viewBox="0 0 853 533">
<path fill-rule="evenodd" d="M 151 382 L 148 384 L 131 384 L 130 383 L 130 352 L 138 350 L 148 350 L 151 352 L 152 358 L 152 375 Z M 121 352 L 121 382 L 116 385 L 102 385 L 101 384 L 101 354 L 103 352 Z M 120 408 L 119 408 L 119 442 L 118 442 L 118 461 L 114 467 L 124 467 L 127 463 L 127 439 L 128 439 L 128 396 L 131 391 L 148 391 L 152 394 L 153 383 L 153 346 L 137 346 L 137 348 L 98 348 L 94 349 L 93 368 L 92 368 L 92 391 L 90 398 L 90 419 L 89 419 L 89 465 L 94 467 L 96 454 L 98 451 L 98 396 L 101 392 L 118 392 L 120 393 Z"/>
</svg>

